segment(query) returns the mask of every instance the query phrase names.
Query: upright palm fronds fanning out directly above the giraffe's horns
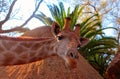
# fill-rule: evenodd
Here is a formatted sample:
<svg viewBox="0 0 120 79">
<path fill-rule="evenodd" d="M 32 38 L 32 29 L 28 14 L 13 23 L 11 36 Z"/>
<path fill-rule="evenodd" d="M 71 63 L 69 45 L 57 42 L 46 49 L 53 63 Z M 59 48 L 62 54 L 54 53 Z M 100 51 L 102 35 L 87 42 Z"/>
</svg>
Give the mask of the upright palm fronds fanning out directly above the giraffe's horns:
<svg viewBox="0 0 120 79">
<path fill-rule="evenodd" d="M 58 6 L 54 4 L 48 5 L 48 8 L 54 20 L 60 25 L 61 29 L 64 26 L 64 20 L 66 17 L 71 18 L 71 29 L 73 29 L 80 14 L 82 13 L 82 10 L 84 9 L 84 6 L 80 7 L 79 5 L 77 5 L 72 12 L 70 12 L 70 7 L 67 9 L 66 12 L 66 9 L 62 2 L 60 2 Z"/>
</svg>

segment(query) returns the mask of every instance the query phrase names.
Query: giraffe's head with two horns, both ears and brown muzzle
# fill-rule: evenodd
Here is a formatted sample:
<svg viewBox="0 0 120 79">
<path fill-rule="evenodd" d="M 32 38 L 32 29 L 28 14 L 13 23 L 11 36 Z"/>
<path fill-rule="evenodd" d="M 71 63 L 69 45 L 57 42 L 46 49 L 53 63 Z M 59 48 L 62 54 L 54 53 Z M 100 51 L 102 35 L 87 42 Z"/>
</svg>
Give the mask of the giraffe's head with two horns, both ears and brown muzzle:
<svg viewBox="0 0 120 79">
<path fill-rule="evenodd" d="M 80 26 L 76 25 L 76 28 L 71 30 L 70 18 L 66 18 L 63 30 L 60 30 L 59 25 L 54 22 L 51 31 L 57 40 L 57 55 L 65 60 L 65 63 L 69 68 L 76 68 L 77 59 L 79 58 L 78 49 L 88 42 L 85 38 L 82 38 L 82 41 L 80 41 Z"/>
</svg>

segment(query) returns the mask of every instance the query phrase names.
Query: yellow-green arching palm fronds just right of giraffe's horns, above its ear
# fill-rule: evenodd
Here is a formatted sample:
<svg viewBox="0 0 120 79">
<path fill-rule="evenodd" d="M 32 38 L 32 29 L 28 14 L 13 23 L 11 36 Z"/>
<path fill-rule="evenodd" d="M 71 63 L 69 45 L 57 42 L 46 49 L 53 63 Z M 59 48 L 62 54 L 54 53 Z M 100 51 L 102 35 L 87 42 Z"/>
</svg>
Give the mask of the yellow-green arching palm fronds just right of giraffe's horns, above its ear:
<svg viewBox="0 0 120 79">
<path fill-rule="evenodd" d="M 101 22 L 99 19 L 95 18 L 98 14 L 94 14 L 89 18 L 85 19 L 80 25 L 80 34 L 82 37 L 92 38 L 96 34 L 103 34 L 102 32 L 97 32 L 101 28 Z"/>
</svg>

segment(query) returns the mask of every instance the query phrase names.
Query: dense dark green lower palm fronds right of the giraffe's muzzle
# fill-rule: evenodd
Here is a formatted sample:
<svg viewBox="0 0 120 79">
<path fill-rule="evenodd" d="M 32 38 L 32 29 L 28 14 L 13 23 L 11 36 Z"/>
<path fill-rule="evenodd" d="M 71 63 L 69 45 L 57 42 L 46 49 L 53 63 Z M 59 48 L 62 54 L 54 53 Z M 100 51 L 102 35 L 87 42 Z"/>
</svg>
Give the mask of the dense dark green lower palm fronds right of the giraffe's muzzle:
<svg viewBox="0 0 120 79">
<path fill-rule="evenodd" d="M 92 39 L 85 47 L 81 48 L 80 51 L 89 63 L 103 75 L 117 46 L 118 43 L 115 38 L 101 37 Z"/>
</svg>

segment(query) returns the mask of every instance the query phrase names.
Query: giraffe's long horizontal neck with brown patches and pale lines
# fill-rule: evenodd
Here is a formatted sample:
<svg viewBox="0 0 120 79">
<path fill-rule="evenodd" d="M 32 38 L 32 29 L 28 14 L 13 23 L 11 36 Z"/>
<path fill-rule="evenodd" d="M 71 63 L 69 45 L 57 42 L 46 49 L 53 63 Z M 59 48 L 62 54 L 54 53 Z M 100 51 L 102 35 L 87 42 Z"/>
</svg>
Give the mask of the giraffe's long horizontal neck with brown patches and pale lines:
<svg viewBox="0 0 120 79">
<path fill-rule="evenodd" d="M 54 38 L 6 38 L 0 37 L 0 66 L 31 63 L 56 52 Z"/>
</svg>

